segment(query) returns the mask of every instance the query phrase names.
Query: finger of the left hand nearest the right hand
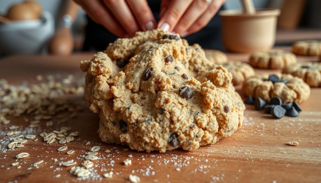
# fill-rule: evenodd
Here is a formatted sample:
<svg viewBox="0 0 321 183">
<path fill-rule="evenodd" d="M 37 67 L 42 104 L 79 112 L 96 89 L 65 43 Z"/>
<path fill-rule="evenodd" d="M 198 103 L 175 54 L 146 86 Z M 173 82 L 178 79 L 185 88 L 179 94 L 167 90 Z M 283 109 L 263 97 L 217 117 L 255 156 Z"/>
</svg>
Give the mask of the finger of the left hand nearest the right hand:
<svg viewBox="0 0 321 183">
<path fill-rule="evenodd" d="M 141 29 L 144 31 L 155 29 L 156 21 L 146 0 L 126 0 L 126 2 L 134 13 Z"/>
</svg>

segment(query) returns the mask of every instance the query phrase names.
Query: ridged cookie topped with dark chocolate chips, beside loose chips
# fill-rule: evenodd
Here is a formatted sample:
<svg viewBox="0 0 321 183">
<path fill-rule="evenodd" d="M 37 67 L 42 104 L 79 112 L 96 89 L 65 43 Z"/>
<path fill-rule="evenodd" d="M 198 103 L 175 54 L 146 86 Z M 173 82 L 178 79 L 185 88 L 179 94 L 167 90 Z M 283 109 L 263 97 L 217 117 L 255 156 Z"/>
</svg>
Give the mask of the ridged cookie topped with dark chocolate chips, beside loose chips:
<svg viewBox="0 0 321 183">
<path fill-rule="evenodd" d="M 267 102 L 278 96 L 282 103 L 301 103 L 309 98 L 310 87 L 303 79 L 291 74 L 259 74 L 244 81 L 242 92 L 246 96 L 261 97 Z"/>
</svg>

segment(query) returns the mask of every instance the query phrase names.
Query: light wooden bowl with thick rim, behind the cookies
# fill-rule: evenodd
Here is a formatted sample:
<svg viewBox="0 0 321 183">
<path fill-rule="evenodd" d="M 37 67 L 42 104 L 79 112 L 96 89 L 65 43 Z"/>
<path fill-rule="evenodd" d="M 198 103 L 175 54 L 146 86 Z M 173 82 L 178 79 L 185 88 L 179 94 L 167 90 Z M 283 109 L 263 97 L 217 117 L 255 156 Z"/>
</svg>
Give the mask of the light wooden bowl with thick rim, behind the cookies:
<svg viewBox="0 0 321 183">
<path fill-rule="evenodd" d="M 253 53 L 271 49 L 275 43 L 278 9 L 259 9 L 255 14 L 221 11 L 222 41 L 232 52 Z"/>
</svg>

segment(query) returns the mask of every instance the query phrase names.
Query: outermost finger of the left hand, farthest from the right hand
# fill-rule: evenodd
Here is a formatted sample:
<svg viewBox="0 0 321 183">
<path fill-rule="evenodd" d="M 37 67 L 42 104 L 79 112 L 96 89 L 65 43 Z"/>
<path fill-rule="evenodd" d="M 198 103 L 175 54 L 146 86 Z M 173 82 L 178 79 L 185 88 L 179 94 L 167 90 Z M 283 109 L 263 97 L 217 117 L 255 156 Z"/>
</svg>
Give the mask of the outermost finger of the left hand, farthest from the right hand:
<svg viewBox="0 0 321 183">
<path fill-rule="evenodd" d="M 118 37 L 126 37 L 127 33 L 123 27 L 115 20 L 105 5 L 97 0 L 79 1 L 79 4 L 85 9 L 89 17 L 103 25 Z"/>
</svg>

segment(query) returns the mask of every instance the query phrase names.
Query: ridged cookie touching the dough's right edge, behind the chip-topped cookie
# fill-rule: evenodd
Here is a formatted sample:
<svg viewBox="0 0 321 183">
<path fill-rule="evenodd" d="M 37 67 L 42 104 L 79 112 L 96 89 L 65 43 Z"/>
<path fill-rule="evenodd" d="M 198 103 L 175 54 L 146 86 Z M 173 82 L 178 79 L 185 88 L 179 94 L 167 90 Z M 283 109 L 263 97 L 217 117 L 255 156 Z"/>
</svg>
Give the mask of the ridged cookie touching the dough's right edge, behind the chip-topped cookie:
<svg viewBox="0 0 321 183">
<path fill-rule="evenodd" d="M 252 66 L 239 61 L 229 61 L 223 64 L 223 67 L 230 71 L 233 75 L 232 83 L 238 85 L 248 77 L 254 76 L 255 71 Z"/>
</svg>

